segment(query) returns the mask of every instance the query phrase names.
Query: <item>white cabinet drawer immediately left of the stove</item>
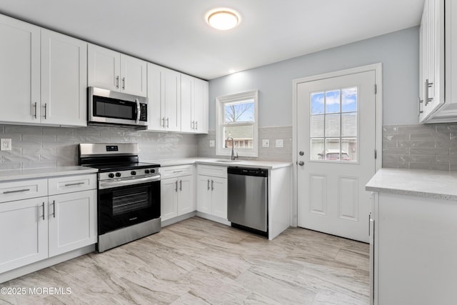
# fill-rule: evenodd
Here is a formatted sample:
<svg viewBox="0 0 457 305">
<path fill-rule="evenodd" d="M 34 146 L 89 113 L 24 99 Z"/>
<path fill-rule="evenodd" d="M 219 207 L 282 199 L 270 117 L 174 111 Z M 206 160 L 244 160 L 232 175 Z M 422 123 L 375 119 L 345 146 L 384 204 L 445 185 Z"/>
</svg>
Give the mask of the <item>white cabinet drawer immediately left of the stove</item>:
<svg viewBox="0 0 457 305">
<path fill-rule="evenodd" d="M 49 195 L 96 189 L 96 175 L 64 176 L 49 179 Z"/>
</svg>

